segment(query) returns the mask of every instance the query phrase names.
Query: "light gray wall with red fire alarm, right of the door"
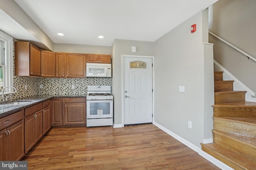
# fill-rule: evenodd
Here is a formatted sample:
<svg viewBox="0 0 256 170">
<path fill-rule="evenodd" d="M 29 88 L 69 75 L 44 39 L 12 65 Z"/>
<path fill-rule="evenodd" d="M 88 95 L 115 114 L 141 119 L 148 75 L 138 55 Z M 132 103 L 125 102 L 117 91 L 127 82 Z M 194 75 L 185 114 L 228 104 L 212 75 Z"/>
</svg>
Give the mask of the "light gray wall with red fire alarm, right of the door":
<svg viewBox="0 0 256 170">
<path fill-rule="evenodd" d="M 213 91 L 208 92 L 204 86 L 209 85 L 205 77 L 213 77 L 213 63 L 209 65 L 212 72 L 204 73 L 207 62 L 202 42 L 208 40 L 207 31 L 203 30 L 208 28 L 204 15 L 208 16 L 208 12 L 199 12 L 154 43 L 154 121 L 197 147 L 204 138 L 212 136 L 212 109 L 210 104 L 205 106 L 204 98 L 206 93 L 212 98 Z M 190 33 L 193 24 L 197 31 Z M 179 86 L 185 86 L 185 92 L 179 92 Z M 192 121 L 192 129 L 188 128 L 188 121 Z M 210 128 L 204 131 L 208 123 Z"/>
</svg>

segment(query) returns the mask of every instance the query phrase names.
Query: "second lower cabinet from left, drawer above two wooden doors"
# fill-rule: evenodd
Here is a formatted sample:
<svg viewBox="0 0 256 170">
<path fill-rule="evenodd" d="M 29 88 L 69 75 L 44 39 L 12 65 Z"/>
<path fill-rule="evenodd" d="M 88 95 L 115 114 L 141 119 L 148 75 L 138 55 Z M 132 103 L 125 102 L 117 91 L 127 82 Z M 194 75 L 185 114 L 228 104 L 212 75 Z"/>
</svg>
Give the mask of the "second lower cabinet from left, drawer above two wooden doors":
<svg viewBox="0 0 256 170">
<path fill-rule="evenodd" d="M 43 136 L 42 103 L 26 108 L 25 116 L 25 153 L 27 153 Z"/>
</svg>

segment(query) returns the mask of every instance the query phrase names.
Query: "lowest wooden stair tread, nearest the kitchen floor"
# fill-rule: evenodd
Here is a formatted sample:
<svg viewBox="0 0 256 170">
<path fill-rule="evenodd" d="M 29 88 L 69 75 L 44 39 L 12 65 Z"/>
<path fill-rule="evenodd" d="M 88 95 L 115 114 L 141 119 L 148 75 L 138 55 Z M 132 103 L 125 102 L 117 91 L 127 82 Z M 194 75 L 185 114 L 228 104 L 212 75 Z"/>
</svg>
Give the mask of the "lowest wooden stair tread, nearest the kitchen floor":
<svg viewBox="0 0 256 170">
<path fill-rule="evenodd" d="M 202 147 L 214 152 L 218 156 L 221 156 L 226 161 L 224 163 L 228 164 L 227 161 L 232 162 L 232 164 L 236 164 L 240 166 L 241 169 L 252 170 L 256 167 L 256 164 L 243 156 L 240 156 L 234 152 L 231 152 L 227 149 L 222 148 L 220 145 L 215 143 L 201 144 Z M 230 164 L 228 164 L 230 166 Z"/>
</svg>

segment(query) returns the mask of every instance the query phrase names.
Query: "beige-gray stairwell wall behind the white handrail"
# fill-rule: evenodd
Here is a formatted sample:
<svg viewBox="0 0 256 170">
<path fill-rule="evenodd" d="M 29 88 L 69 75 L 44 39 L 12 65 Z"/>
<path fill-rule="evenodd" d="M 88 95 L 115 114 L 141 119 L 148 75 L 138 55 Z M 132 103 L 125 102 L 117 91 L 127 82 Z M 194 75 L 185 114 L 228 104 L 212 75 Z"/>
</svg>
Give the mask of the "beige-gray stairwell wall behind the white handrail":
<svg viewBox="0 0 256 170">
<path fill-rule="evenodd" d="M 256 1 L 219 0 L 209 7 L 209 31 L 256 57 Z M 256 62 L 209 34 L 214 59 L 256 92 Z"/>
</svg>

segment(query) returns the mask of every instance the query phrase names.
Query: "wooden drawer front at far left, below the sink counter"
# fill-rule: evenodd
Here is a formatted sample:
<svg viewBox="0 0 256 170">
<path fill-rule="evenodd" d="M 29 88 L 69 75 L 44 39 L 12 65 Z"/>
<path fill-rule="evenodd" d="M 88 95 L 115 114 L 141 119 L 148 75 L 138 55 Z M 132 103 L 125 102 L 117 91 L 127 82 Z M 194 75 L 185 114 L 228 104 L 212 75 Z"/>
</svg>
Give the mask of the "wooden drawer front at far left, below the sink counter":
<svg viewBox="0 0 256 170">
<path fill-rule="evenodd" d="M 12 125 L 24 118 L 24 110 L 0 119 L 0 130 Z"/>
</svg>

